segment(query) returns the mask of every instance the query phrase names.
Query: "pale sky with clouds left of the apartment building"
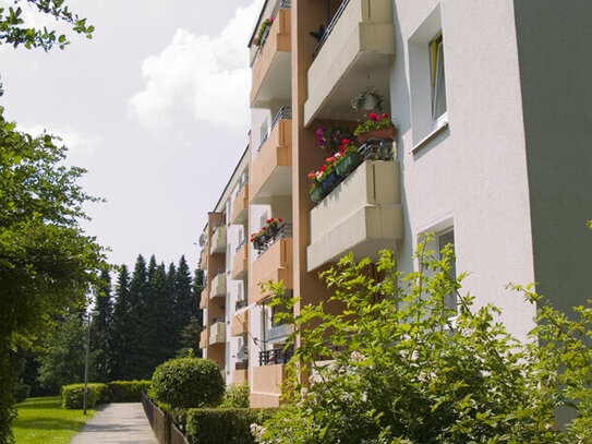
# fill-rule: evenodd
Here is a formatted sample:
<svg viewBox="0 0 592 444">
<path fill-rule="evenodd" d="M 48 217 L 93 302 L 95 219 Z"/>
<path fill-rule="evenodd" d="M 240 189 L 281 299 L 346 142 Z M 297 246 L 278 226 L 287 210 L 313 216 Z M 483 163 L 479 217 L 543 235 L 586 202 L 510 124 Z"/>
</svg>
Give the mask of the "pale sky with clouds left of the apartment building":
<svg viewBox="0 0 592 444">
<path fill-rule="evenodd" d="M 2 2 L 7 0 L 1 0 Z M 4 116 L 62 137 L 112 264 L 198 262 L 197 239 L 247 144 L 247 41 L 263 0 L 69 0 L 96 27 L 64 50 L 0 46 Z M 21 1 L 27 23 L 44 21 Z"/>
</svg>

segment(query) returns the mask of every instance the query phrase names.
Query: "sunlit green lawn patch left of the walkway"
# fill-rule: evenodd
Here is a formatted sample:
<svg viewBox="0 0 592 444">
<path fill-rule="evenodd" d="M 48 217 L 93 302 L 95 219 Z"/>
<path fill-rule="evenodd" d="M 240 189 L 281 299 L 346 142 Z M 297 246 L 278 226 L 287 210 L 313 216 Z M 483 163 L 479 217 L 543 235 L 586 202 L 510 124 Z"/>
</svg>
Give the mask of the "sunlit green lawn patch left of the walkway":
<svg viewBox="0 0 592 444">
<path fill-rule="evenodd" d="M 12 423 L 16 444 L 68 444 L 95 413 L 62 409 L 59 396 L 28 398 L 16 410 L 19 417 Z"/>
</svg>

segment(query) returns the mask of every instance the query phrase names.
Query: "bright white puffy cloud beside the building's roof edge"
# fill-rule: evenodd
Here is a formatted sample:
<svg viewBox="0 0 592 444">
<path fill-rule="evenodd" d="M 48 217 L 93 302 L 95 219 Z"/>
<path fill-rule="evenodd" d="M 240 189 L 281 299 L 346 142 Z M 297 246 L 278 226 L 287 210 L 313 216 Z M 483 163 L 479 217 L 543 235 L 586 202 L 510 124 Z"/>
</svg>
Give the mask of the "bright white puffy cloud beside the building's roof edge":
<svg viewBox="0 0 592 444">
<path fill-rule="evenodd" d="M 215 37 L 178 29 L 162 52 L 142 63 L 146 85 L 130 98 L 129 116 L 162 129 L 184 109 L 198 121 L 245 131 L 251 89 L 246 40 L 259 8 L 261 0 L 238 8 Z"/>
</svg>

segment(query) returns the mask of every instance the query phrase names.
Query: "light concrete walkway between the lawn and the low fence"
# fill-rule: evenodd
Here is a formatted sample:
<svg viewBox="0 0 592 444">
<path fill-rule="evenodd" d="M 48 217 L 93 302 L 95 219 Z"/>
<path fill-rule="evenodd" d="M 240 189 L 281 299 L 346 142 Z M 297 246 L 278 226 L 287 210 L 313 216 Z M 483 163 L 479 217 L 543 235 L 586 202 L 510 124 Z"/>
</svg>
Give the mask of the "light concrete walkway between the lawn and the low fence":
<svg viewBox="0 0 592 444">
<path fill-rule="evenodd" d="M 108 404 L 77 433 L 70 444 L 157 444 L 141 403 Z"/>
</svg>

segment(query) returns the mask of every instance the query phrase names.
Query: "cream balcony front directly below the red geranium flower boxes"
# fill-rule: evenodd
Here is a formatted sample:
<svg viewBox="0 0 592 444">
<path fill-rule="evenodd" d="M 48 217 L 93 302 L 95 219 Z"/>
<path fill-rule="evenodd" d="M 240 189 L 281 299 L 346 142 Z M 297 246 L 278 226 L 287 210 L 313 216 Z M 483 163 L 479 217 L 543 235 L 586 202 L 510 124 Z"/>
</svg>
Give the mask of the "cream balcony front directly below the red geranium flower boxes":
<svg viewBox="0 0 592 444">
<path fill-rule="evenodd" d="M 309 272 L 337 262 L 350 251 L 355 260 L 375 260 L 380 250 L 396 250 L 397 241 L 402 239 L 399 164 L 371 158 L 311 212 Z"/>
</svg>

